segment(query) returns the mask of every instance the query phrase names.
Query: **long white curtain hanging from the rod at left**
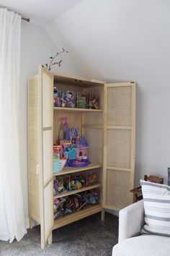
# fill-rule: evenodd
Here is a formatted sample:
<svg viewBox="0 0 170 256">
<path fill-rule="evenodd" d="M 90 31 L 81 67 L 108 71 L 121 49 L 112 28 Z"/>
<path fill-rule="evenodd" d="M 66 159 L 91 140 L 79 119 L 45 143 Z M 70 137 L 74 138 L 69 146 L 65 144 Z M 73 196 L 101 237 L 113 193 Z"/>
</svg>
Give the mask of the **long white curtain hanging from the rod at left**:
<svg viewBox="0 0 170 256">
<path fill-rule="evenodd" d="M 19 145 L 20 31 L 21 17 L 0 8 L 0 239 L 9 242 L 27 233 Z"/>
</svg>

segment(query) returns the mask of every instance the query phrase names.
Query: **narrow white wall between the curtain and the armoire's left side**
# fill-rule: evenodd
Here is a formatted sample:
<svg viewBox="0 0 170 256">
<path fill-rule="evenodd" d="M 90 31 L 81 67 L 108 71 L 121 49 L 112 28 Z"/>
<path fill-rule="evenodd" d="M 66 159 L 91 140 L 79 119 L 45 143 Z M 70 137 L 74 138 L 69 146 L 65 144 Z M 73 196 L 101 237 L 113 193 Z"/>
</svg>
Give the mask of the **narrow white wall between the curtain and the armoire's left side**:
<svg viewBox="0 0 170 256">
<path fill-rule="evenodd" d="M 20 136 L 22 137 L 22 184 L 24 193 L 24 214 L 28 221 L 27 192 L 27 80 L 37 74 L 38 64 L 45 64 L 57 51 L 57 47 L 42 27 L 22 22 L 21 31 L 21 85 L 22 98 Z M 28 224 L 28 223 L 27 223 Z M 28 225 L 27 225 L 28 226 Z"/>
</svg>

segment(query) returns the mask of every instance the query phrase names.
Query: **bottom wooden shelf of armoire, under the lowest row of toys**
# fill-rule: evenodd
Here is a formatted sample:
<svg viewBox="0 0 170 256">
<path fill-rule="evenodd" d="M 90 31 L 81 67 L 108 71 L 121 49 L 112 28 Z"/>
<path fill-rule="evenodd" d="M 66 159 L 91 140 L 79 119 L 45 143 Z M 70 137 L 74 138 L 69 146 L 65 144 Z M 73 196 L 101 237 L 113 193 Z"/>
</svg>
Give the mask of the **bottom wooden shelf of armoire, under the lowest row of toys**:
<svg viewBox="0 0 170 256">
<path fill-rule="evenodd" d="M 100 211 L 102 211 L 102 205 L 97 204 L 97 205 L 91 206 L 90 208 L 80 210 L 78 213 L 72 213 L 68 216 L 58 218 L 54 221 L 53 229 L 58 229 L 61 226 L 65 226 L 74 221 L 79 221 L 81 220 L 81 218 L 91 216 L 92 214 L 99 213 Z"/>
</svg>

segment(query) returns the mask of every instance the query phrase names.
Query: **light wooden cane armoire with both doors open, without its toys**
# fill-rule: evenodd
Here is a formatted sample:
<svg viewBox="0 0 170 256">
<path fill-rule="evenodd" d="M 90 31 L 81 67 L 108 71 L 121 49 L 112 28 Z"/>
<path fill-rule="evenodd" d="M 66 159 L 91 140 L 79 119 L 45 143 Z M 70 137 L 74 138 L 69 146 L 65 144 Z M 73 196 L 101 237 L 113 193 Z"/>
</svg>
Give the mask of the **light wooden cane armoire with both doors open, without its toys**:
<svg viewBox="0 0 170 256">
<path fill-rule="evenodd" d="M 99 108 L 53 107 L 53 87 L 94 93 Z M 89 166 L 66 167 L 53 174 L 53 141 L 59 139 L 61 117 L 69 127 L 79 127 L 89 143 Z M 135 82 L 106 83 L 49 72 L 39 66 L 28 85 L 28 177 L 30 229 L 40 223 L 41 247 L 52 242 L 52 231 L 73 221 L 105 210 L 120 210 L 133 202 L 135 168 Z M 54 176 L 99 170 L 100 181 L 80 191 L 63 192 L 66 197 L 88 189 L 99 189 L 99 203 L 77 213 L 53 218 Z M 56 197 L 56 196 L 55 196 Z"/>
</svg>

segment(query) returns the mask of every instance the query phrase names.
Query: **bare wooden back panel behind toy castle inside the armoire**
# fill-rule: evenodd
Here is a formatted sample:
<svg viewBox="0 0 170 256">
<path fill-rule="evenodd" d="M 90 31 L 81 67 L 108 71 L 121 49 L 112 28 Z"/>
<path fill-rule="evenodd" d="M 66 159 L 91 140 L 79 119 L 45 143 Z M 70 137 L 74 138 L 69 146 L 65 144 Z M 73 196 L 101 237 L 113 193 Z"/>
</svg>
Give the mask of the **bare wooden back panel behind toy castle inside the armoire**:
<svg viewBox="0 0 170 256">
<path fill-rule="evenodd" d="M 67 111 L 58 111 L 55 110 L 53 113 L 54 121 L 53 121 L 53 139 L 58 143 L 59 139 L 63 138 L 63 121 L 62 117 L 67 117 L 68 127 L 71 129 L 72 127 L 79 128 L 79 134 L 81 135 L 81 113 L 75 112 L 67 112 Z"/>
</svg>

